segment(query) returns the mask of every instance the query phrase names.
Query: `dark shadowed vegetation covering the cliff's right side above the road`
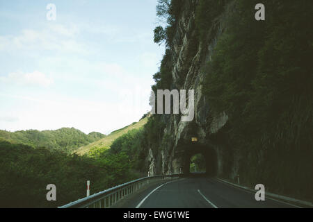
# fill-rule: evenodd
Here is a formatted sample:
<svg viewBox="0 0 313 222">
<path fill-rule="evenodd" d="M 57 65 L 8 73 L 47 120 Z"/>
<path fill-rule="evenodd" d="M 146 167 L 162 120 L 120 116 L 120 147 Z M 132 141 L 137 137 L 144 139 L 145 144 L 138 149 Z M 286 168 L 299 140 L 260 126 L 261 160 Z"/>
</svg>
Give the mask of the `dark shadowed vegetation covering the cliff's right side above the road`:
<svg viewBox="0 0 313 222">
<path fill-rule="evenodd" d="M 264 22 L 251 19 L 256 3 L 235 1 L 203 69 L 212 110 L 229 117 L 214 139 L 241 153 L 247 183 L 262 178 L 270 189 L 312 198 L 312 1 L 262 1 Z"/>
</svg>

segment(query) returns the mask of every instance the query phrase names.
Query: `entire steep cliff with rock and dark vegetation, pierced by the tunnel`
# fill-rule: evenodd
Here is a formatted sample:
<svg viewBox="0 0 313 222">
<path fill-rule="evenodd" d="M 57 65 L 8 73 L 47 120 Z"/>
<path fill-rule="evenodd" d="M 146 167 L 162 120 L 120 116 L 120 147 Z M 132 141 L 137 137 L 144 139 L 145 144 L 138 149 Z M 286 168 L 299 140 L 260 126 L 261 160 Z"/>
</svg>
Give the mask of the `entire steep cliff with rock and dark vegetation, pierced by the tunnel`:
<svg viewBox="0 0 313 222">
<path fill-rule="evenodd" d="M 241 184 L 312 197 L 312 2 L 264 0 L 265 21 L 257 3 L 171 0 L 168 24 L 154 30 L 167 48 L 152 89 L 193 89 L 195 117 L 150 119 L 151 175 L 189 173 L 202 153 L 211 176 L 240 173 Z"/>
</svg>

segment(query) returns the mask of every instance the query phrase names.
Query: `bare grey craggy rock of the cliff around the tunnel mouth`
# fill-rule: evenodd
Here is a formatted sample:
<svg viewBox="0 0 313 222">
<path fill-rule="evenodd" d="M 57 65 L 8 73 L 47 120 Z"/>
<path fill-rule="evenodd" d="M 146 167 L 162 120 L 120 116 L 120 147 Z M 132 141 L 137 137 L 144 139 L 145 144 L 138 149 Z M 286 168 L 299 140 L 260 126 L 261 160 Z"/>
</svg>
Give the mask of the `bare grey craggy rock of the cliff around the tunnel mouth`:
<svg viewBox="0 0 313 222">
<path fill-rule="evenodd" d="M 234 178 L 237 171 L 236 155 L 229 148 L 214 144 L 211 139 L 212 135 L 225 126 L 228 117 L 224 112 L 213 112 L 201 90 L 204 78 L 202 67 L 214 53 L 218 37 L 225 28 L 223 17 L 230 7 L 228 6 L 222 15 L 214 19 L 213 25 L 207 32 L 207 43 L 200 44 L 195 28 L 195 8 L 198 1 L 184 2 L 184 10 L 177 23 L 175 37 L 170 47 L 173 61 L 172 89 L 195 90 L 195 117 L 191 122 L 182 122 L 180 115 L 163 115 L 166 128 L 162 147 L 154 151 L 150 148 L 147 157 L 150 175 L 187 172 L 188 158 L 199 152 L 207 153 L 207 162 L 214 162 L 214 164 L 207 163 L 215 168 L 214 175 Z M 198 137 L 198 142 L 191 143 L 191 137 Z"/>
</svg>

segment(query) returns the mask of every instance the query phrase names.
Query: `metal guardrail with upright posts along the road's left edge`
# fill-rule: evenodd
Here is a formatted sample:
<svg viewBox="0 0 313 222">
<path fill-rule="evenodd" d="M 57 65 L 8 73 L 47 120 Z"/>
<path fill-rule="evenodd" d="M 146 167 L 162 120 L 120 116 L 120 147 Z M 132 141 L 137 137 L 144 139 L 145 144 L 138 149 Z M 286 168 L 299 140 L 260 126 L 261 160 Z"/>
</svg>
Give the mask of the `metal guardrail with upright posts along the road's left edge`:
<svg viewBox="0 0 313 222">
<path fill-rule="evenodd" d="M 182 176 L 182 174 L 147 176 L 145 178 L 132 180 L 122 185 L 100 191 L 97 194 L 90 195 L 86 198 L 81 198 L 58 208 L 109 208 L 115 205 L 115 203 L 117 203 L 119 200 L 122 200 L 122 198 L 125 196 L 128 196 L 138 189 L 143 188 L 150 182 L 155 182 L 157 180 L 173 180 L 175 178 L 179 178 L 179 176 Z"/>
</svg>

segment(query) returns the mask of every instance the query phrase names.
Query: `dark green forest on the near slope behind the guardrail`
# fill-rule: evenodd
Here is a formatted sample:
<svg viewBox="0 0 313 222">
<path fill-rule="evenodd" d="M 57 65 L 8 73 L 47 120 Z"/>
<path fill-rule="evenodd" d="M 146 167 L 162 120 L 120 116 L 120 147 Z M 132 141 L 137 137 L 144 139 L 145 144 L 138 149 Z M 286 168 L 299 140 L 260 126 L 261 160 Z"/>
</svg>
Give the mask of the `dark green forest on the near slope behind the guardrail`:
<svg viewBox="0 0 313 222">
<path fill-rule="evenodd" d="M 4 139 L 0 167 L 0 207 L 59 207 L 85 197 L 87 180 L 94 194 L 138 177 L 125 153 L 93 158 Z M 56 201 L 46 199 L 49 184 L 56 185 Z"/>
</svg>

